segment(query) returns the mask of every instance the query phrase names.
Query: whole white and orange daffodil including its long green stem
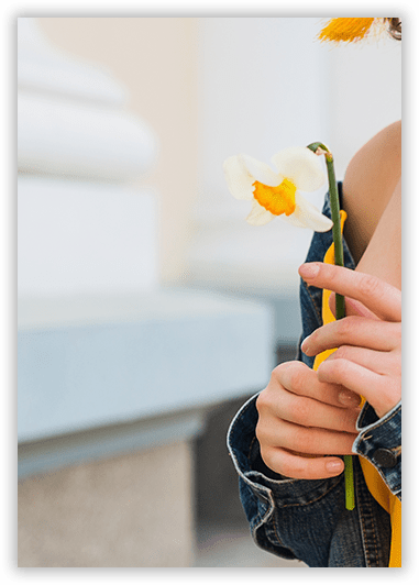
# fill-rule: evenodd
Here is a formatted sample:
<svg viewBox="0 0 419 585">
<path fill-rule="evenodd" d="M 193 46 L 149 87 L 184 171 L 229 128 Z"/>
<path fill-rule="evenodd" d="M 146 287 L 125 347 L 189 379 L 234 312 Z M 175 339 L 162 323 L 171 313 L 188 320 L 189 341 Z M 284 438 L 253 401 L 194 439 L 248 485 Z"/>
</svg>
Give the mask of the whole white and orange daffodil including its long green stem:
<svg viewBox="0 0 419 585">
<path fill-rule="evenodd" d="M 316 191 L 326 183 L 319 157 L 324 154 L 328 169 L 329 194 L 332 220 L 309 203 L 301 191 Z M 343 266 L 343 243 L 340 222 L 338 185 L 334 175 L 333 155 L 321 142 L 307 147 L 291 147 L 275 154 L 271 159 L 273 170 L 245 154 L 230 156 L 224 162 L 224 174 L 229 189 L 236 199 L 253 201 L 246 220 L 253 225 L 264 225 L 279 216 L 284 220 L 317 232 L 333 229 L 334 264 Z M 344 297 L 337 295 L 337 319 L 345 317 Z M 352 456 L 344 456 L 345 506 L 355 507 Z"/>
</svg>

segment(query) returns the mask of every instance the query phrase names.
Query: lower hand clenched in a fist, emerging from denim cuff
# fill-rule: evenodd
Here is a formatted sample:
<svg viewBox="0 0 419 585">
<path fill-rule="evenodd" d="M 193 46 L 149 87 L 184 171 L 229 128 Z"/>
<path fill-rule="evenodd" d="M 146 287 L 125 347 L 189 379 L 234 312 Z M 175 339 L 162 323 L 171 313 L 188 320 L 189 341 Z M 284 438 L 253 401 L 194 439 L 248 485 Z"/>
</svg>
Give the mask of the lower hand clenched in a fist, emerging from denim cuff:
<svg viewBox="0 0 419 585">
<path fill-rule="evenodd" d="M 287 477 L 339 475 L 343 461 L 322 455 L 352 454 L 359 402 L 360 398 L 342 386 L 320 382 L 302 362 L 280 364 L 256 400 L 256 437 L 263 461 Z"/>
</svg>

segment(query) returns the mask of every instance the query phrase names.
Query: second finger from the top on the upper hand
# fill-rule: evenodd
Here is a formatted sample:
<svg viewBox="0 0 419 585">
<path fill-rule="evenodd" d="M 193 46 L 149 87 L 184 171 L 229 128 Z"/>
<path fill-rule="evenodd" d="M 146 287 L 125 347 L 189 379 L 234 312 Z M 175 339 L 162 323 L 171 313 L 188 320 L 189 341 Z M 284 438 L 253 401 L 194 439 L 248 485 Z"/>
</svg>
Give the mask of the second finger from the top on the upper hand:
<svg viewBox="0 0 419 585">
<path fill-rule="evenodd" d="M 317 355 L 324 350 L 341 345 L 356 345 L 389 352 L 399 340 L 398 331 L 398 323 L 363 317 L 346 317 L 316 329 L 304 340 L 301 350 L 306 355 Z"/>
</svg>

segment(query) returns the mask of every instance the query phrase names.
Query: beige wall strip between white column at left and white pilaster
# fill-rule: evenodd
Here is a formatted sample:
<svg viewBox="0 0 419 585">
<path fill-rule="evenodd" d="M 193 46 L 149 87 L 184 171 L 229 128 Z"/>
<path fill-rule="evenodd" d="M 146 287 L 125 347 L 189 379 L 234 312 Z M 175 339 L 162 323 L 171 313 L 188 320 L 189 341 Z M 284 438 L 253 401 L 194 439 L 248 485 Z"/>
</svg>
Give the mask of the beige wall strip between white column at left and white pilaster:
<svg viewBox="0 0 419 585">
<path fill-rule="evenodd" d="M 155 167 L 141 181 L 161 197 L 164 280 L 181 277 L 197 184 L 198 81 L 194 18 L 40 18 L 56 46 L 106 65 L 130 93 L 128 108 L 159 139 Z"/>
</svg>

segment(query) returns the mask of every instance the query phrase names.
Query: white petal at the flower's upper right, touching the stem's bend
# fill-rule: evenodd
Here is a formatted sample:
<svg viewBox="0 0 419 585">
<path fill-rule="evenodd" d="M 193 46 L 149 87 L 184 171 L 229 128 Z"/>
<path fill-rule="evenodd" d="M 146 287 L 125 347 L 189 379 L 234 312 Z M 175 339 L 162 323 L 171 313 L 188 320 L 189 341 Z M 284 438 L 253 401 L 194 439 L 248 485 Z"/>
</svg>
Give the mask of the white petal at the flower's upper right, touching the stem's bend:
<svg viewBox="0 0 419 585">
<path fill-rule="evenodd" d="M 276 153 L 272 162 L 280 175 L 290 179 L 301 191 L 316 191 L 326 181 L 320 157 L 304 146 L 293 146 Z"/>
</svg>

